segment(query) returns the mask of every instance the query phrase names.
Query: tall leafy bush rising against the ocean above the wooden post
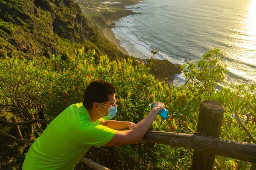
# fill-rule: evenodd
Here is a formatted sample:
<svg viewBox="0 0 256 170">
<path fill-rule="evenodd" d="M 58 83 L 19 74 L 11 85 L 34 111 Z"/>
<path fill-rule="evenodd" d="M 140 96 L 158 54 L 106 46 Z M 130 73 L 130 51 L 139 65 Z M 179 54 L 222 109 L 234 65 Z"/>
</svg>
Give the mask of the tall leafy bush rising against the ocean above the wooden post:
<svg viewBox="0 0 256 170">
<path fill-rule="evenodd" d="M 224 55 L 218 48 L 208 51 L 203 59 L 196 63 L 187 61 L 181 66 L 186 79 L 186 87 L 199 94 L 214 91 L 218 83 L 224 81 L 224 74 L 227 72 L 226 65 L 223 65 Z"/>
</svg>

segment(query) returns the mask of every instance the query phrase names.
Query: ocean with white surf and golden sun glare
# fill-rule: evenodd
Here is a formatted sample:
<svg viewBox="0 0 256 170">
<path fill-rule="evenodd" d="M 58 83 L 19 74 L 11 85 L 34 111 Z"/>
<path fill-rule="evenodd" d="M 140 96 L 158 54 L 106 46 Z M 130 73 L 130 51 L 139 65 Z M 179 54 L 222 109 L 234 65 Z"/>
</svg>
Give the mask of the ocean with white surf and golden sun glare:
<svg viewBox="0 0 256 170">
<path fill-rule="evenodd" d="M 172 63 L 196 62 L 213 48 L 225 53 L 226 86 L 256 84 L 256 0 L 143 0 L 125 6 L 140 13 L 123 17 L 112 28 L 134 57 Z M 176 85 L 184 77 L 177 75 Z"/>
</svg>

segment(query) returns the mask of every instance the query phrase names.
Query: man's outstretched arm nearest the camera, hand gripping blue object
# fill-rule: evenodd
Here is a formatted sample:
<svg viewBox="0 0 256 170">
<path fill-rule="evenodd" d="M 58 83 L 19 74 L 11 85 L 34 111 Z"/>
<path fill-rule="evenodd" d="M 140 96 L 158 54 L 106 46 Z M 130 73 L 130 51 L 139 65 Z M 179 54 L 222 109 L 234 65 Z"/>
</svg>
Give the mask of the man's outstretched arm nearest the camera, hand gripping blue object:
<svg viewBox="0 0 256 170">
<path fill-rule="evenodd" d="M 164 108 L 164 104 L 161 102 L 156 102 L 154 108 L 148 113 L 148 115 L 141 120 L 137 125 L 131 130 L 119 131 L 116 130 L 113 138 L 104 146 L 120 146 L 126 144 L 139 143 L 143 138 L 145 133 L 148 131 L 152 122 L 154 121 L 157 113 L 159 113 Z"/>
</svg>

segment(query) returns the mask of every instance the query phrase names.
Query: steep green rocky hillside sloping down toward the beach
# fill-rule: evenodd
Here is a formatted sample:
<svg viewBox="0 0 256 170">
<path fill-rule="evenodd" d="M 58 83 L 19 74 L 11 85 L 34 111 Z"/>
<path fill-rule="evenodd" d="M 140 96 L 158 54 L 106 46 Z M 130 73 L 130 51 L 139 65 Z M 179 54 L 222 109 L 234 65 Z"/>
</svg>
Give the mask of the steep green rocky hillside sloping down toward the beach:
<svg viewBox="0 0 256 170">
<path fill-rule="evenodd" d="M 96 61 L 123 54 L 90 24 L 73 0 L 0 0 L 0 57 L 49 57 L 94 48 Z"/>
</svg>

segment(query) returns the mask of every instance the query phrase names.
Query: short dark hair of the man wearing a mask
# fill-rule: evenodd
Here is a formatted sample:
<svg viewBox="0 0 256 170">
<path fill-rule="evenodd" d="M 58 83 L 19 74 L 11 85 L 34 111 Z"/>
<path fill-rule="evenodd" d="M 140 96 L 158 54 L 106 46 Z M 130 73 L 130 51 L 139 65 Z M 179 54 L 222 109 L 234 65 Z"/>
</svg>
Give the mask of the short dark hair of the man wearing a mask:
<svg viewBox="0 0 256 170">
<path fill-rule="evenodd" d="M 84 91 L 83 105 L 85 108 L 91 109 L 94 102 L 107 102 L 108 95 L 111 94 L 116 94 L 116 88 L 111 83 L 101 79 L 94 80 Z"/>
</svg>

